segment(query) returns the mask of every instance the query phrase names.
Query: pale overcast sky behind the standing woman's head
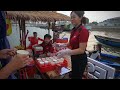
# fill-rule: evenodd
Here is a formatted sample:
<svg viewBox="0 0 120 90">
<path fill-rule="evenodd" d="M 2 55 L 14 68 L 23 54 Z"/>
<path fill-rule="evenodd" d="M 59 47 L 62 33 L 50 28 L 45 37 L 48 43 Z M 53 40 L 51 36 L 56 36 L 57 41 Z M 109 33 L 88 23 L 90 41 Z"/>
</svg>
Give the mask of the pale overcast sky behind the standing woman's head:
<svg viewBox="0 0 120 90">
<path fill-rule="evenodd" d="M 58 13 L 62 13 L 70 16 L 71 11 L 57 11 Z M 102 22 L 106 19 L 120 17 L 120 11 L 85 11 L 85 15 L 89 18 L 90 22 Z"/>
</svg>

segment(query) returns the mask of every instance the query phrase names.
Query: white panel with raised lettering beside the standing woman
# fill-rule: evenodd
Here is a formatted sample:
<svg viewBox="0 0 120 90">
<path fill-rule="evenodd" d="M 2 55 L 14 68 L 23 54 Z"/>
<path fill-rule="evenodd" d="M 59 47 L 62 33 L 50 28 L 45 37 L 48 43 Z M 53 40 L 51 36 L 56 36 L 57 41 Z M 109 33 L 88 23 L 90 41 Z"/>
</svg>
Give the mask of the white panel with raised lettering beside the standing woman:
<svg viewBox="0 0 120 90">
<path fill-rule="evenodd" d="M 115 68 L 88 57 L 89 79 L 114 79 Z"/>
</svg>

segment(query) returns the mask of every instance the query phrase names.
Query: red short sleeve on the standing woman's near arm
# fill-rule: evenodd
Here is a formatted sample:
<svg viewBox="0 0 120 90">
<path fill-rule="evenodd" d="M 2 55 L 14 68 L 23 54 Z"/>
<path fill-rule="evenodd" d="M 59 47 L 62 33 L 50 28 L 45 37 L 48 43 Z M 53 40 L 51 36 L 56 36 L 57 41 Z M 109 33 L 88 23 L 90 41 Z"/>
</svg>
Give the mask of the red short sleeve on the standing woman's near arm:
<svg viewBox="0 0 120 90">
<path fill-rule="evenodd" d="M 89 32 L 87 29 L 83 29 L 80 32 L 80 36 L 79 36 L 79 42 L 80 43 L 86 43 L 88 42 L 88 38 L 89 38 Z"/>
</svg>

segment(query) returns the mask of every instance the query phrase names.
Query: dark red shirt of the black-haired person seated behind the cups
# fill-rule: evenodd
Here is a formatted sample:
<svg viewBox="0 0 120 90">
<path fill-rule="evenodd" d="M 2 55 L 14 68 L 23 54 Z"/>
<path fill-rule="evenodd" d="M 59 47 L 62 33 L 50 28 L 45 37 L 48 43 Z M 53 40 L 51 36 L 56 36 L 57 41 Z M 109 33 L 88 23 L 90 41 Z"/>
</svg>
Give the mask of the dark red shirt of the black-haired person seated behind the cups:
<svg viewBox="0 0 120 90">
<path fill-rule="evenodd" d="M 44 53 L 44 54 L 45 54 L 45 53 L 48 53 L 48 52 L 50 52 L 50 53 L 53 53 L 53 52 L 54 52 L 54 47 L 52 46 L 52 43 L 51 43 L 51 42 L 48 43 L 48 44 L 46 44 L 45 42 L 43 42 L 42 44 L 40 44 L 40 46 L 43 47 L 43 53 Z"/>
</svg>

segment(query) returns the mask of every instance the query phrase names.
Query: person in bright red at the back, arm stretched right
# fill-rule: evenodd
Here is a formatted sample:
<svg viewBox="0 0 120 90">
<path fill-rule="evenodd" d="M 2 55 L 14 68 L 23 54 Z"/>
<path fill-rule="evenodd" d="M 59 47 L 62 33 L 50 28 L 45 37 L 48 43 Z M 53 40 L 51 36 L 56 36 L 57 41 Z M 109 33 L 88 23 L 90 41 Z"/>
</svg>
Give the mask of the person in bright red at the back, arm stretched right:
<svg viewBox="0 0 120 90">
<path fill-rule="evenodd" d="M 33 49 L 33 46 L 38 44 L 38 40 L 44 41 L 43 39 L 37 37 L 37 32 L 33 32 L 33 37 L 28 37 L 28 40 L 30 41 L 30 45 L 27 49 Z"/>
</svg>

